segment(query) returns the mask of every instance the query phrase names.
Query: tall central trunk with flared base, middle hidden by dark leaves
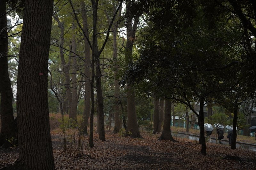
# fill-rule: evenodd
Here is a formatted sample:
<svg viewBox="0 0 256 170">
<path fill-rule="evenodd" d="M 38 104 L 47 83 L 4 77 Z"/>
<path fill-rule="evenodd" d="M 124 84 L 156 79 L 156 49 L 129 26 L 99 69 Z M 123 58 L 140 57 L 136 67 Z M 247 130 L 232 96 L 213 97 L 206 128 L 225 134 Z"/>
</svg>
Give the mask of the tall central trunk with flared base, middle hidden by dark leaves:
<svg viewBox="0 0 256 170">
<path fill-rule="evenodd" d="M 131 0 L 126 0 L 126 47 L 125 47 L 125 64 L 128 66 L 132 63 L 132 48 L 135 40 L 136 29 L 138 25 L 138 19 L 135 18 L 132 26 L 132 15 L 131 15 Z M 136 104 L 135 104 L 135 92 L 131 84 L 126 86 L 127 90 L 127 128 L 126 136 L 133 138 L 141 137 L 137 116 L 136 116 Z M 132 133 L 132 134 L 131 134 Z"/>
</svg>

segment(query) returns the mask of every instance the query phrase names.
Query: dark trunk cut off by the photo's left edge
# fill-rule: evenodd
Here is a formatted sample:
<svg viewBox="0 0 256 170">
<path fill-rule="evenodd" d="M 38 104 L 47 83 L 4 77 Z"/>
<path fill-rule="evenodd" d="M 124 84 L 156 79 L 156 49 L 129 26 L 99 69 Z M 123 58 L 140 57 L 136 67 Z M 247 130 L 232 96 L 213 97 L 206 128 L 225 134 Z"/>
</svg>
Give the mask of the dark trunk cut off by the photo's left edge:
<svg viewBox="0 0 256 170">
<path fill-rule="evenodd" d="M 8 34 L 6 19 L 6 1 L 0 1 L 0 92 L 1 92 L 1 148 L 9 146 L 7 138 L 17 139 L 17 125 L 14 122 L 12 110 L 12 85 L 8 73 Z"/>
</svg>

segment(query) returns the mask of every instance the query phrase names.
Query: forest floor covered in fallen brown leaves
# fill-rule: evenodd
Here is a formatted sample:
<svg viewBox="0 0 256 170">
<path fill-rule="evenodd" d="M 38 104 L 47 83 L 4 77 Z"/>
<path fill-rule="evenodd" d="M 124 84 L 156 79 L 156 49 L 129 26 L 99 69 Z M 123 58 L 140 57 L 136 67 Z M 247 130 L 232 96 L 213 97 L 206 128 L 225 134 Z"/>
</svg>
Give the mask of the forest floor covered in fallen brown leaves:
<svg viewBox="0 0 256 170">
<path fill-rule="evenodd" d="M 77 132 L 70 130 L 67 151 L 64 152 L 61 130 L 57 128 L 51 134 L 57 170 L 256 169 L 254 151 L 234 150 L 227 145 L 206 143 L 207 155 L 201 155 L 201 145 L 197 141 L 183 138 L 177 138 L 177 142 L 158 141 L 159 134 L 145 132 L 141 132 L 143 138 L 134 139 L 106 131 L 106 141 L 100 141 L 98 134 L 94 133 L 94 147 L 89 147 L 88 136 L 74 141 Z M 0 169 L 12 165 L 19 156 L 18 152 L 18 148 L 0 150 Z M 238 156 L 242 162 L 222 159 L 226 155 Z"/>
</svg>

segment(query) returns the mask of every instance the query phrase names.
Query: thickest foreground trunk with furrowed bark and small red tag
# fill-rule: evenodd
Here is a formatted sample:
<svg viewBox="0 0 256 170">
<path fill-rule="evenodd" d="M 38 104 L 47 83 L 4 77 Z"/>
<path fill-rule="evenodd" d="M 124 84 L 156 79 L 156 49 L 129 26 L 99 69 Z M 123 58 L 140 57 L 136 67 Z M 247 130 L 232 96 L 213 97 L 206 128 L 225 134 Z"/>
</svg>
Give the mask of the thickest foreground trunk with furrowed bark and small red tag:
<svg viewBox="0 0 256 170">
<path fill-rule="evenodd" d="M 27 0 L 17 80 L 19 159 L 12 169 L 54 170 L 48 110 L 53 0 Z"/>
</svg>

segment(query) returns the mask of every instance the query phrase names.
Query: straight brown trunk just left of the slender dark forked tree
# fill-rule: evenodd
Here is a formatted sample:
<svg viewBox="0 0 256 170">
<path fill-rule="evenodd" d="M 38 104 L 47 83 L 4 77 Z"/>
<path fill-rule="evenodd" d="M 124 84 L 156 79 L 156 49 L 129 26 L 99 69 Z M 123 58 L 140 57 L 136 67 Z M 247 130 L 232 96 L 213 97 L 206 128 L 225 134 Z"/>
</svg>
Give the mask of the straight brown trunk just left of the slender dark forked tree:
<svg viewBox="0 0 256 170">
<path fill-rule="evenodd" d="M 87 128 L 88 128 L 88 119 L 90 116 L 91 111 L 91 84 L 90 84 L 90 58 L 91 58 L 91 52 L 90 52 L 90 45 L 88 41 L 86 40 L 86 37 L 89 37 L 88 33 L 88 23 L 87 23 L 87 14 L 85 11 L 85 4 L 84 1 L 80 1 L 80 5 L 82 7 L 82 19 L 83 19 L 83 28 L 84 28 L 84 53 L 85 53 L 85 59 L 84 59 L 84 112 L 83 112 L 83 118 L 82 118 L 82 133 L 85 135 L 88 135 Z"/>
</svg>

